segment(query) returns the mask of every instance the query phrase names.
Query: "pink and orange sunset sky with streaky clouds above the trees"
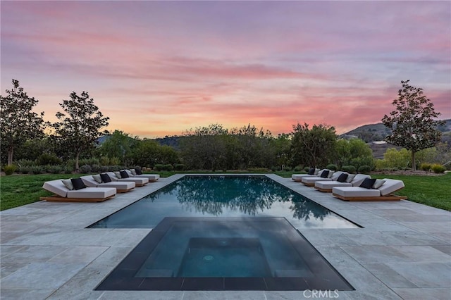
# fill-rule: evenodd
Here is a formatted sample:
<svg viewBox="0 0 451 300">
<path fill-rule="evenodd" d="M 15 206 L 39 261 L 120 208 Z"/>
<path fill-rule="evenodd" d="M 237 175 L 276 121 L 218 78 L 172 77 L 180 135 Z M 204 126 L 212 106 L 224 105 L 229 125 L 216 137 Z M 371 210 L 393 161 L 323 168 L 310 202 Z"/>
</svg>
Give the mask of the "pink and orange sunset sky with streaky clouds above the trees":
<svg viewBox="0 0 451 300">
<path fill-rule="evenodd" d="M 1 1 L 1 95 L 54 122 L 89 92 L 109 130 L 213 123 L 338 133 L 380 123 L 401 80 L 451 118 L 450 1 Z"/>
</svg>

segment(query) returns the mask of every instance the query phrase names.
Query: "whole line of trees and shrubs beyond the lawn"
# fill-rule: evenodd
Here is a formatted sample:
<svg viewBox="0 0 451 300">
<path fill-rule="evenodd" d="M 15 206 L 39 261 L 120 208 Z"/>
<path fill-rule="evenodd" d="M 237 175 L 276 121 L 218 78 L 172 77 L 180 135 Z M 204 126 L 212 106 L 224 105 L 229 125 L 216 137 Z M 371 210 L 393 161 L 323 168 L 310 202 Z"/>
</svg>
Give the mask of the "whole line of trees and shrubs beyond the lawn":
<svg viewBox="0 0 451 300">
<path fill-rule="evenodd" d="M 109 118 L 104 117 L 87 92 L 80 96 L 70 93 L 70 99 L 59 104 L 63 111 L 56 113 L 56 123 L 44 122 L 44 113 L 32 111 L 38 101 L 27 96 L 18 80 L 13 80 L 13 89 L 6 93 L 0 98 L 0 158 L 6 173 L 16 168 L 21 173 L 88 173 L 135 166 L 154 170 L 302 170 L 328 165 L 363 172 L 376 166 L 395 168 L 393 161 L 402 161 L 401 168 L 419 163 L 451 166 L 450 146 L 437 144 L 440 132 L 435 127 L 441 123 L 433 120 L 428 120 L 427 126 L 416 126 L 423 132 L 405 139 L 406 131 L 402 129 L 414 125 L 401 127 L 395 117 L 392 120 L 385 116 L 387 126 L 398 125 L 399 132 L 390 139 L 400 146 L 406 145 L 412 155 L 407 159 L 403 152 L 400 159 L 387 158 L 376 164 L 371 148 L 362 139 L 340 139 L 330 125 L 310 127 L 298 123 L 292 125 L 292 132 L 275 137 L 268 130 L 250 124 L 232 129 L 212 124 L 186 130 L 175 149 L 121 130 L 102 132 L 101 128 L 109 125 Z M 431 109 L 431 105 L 426 108 Z M 412 118 L 400 120 L 404 119 Z M 98 144 L 99 137 L 105 134 L 108 137 Z M 428 151 L 428 155 L 422 155 L 421 151 Z"/>
</svg>

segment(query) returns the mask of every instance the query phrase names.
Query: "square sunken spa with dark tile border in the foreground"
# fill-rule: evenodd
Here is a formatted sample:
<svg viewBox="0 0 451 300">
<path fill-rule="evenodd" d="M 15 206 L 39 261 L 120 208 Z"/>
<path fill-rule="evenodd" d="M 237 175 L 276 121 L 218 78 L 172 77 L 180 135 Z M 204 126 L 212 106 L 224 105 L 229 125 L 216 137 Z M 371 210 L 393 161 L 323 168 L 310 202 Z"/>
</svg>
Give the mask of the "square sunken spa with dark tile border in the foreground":
<svg viewBox="0 0 451 300">
<path fill-rule="evenodd" d="M 353 287 L 285 218 L 164 218 L 97 290 Z"/>
</svg>

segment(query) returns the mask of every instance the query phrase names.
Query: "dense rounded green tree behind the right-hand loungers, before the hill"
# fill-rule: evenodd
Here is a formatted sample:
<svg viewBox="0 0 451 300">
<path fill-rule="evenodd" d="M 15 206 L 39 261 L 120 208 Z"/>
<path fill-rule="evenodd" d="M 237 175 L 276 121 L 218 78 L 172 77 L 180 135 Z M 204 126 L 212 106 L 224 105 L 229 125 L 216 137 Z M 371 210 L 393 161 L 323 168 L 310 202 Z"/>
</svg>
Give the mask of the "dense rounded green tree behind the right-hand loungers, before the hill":
<svg viewBox="0 0 451 300">
<path fill-rule="evenodd" d="M 293 125 L 292 159 L 295 165 L 325 166 L 333 158 L 337 135 L 328 125 Z"/>
</svg>

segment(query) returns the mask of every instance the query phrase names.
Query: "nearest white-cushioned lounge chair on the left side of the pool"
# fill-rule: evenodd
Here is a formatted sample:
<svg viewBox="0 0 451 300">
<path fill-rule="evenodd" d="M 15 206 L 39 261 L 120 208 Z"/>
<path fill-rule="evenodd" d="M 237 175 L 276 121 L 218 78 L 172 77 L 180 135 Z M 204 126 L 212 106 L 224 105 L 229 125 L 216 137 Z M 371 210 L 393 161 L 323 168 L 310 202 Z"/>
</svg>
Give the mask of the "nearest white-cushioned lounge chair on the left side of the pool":
<svg viewBox="0 0 451 300">
<path fill-rule="evenodd" d="M 85 187 L 82 189 L 69 189 L 63 180 L 44 182 L 42 188 L 54 193 L 53 196 L 40 197 L 39 200 L 61 202 L 101 202 L 116 195 L 114 187 Z"/>
</svg>

